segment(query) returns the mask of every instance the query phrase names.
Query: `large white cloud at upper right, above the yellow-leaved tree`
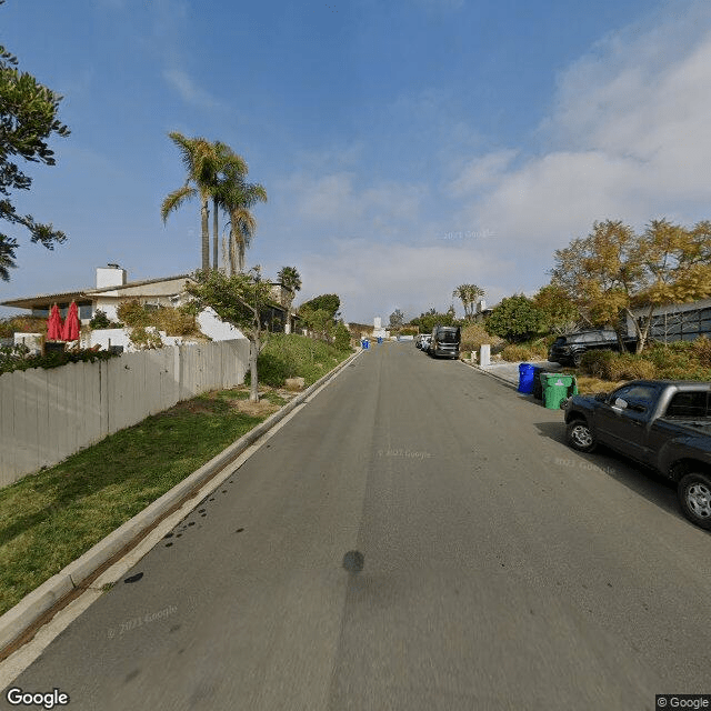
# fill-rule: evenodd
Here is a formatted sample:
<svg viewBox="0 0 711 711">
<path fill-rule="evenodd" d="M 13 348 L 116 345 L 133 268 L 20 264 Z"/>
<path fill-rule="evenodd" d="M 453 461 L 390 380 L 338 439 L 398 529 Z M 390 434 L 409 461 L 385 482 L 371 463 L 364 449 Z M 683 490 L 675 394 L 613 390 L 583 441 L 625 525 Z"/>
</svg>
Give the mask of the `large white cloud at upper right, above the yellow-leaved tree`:
<svg viewBox="0 0 711 711">
<path fill-rule="evenodd" d="M 514 167 L 513 151 L 473 159 L 451 183 L 472 194 L 459 221 L 552 251 L 594 220 L 710 217 L 710 13 L 691 9 L 695 21 L 624 29 L 563 72 L 541 127 L 553 149 Z"/>
</svg>

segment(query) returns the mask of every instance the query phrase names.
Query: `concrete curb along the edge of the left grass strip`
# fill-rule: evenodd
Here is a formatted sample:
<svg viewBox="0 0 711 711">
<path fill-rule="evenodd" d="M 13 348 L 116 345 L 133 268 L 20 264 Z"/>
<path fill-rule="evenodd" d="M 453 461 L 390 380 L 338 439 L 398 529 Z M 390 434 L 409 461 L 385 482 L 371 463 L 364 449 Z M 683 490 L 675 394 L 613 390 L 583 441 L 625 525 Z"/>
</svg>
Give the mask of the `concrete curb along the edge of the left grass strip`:
<svg viewBox="0 0 711 711">
<path fill-rule="evenodd" d="M 274 412 L 267 420 L 250 430 L 247 434 L 222 450 L 209 462 L 167 491 L 143 511 L 109 533 L 103 540 L 90 548 L 83 555 L 69 563 L 59 573 L 43 582 L 39 588 L 26 595 L 18 604 L 0 617 L 0 659 L 3 650 L 16 642 L 28 628 L 40 618 L 51 613 L 52 609 L 82 589 L 87 589 L 92 578 L 106 568 L 114 558 L 126 554 L 140 542 L 161 519 L 196 495 L 197 492 L 220 470 L 236 460 L 250 444 L 268 432 L 274 424 L 283 420 L 292 410 L 336 377 L 362 352 L 356 353 L 339 363 L 332 371 L 320 378 L 310 388 L 298 394 L 290 402 Z"/>
</svg>

